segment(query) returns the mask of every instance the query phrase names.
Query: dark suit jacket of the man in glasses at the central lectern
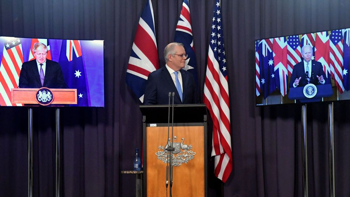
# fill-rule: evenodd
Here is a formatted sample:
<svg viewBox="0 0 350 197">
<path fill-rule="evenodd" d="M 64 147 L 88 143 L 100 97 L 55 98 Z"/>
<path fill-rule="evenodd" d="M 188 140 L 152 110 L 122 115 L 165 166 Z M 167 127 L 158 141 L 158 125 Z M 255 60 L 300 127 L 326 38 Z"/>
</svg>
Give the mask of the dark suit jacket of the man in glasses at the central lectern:
<svg viewBox="0 0 350 197">
<path fill-rule="evenodd" d="M 168 104 L 169 92 L 175 92 L 174 104 L 197 104 L 196 84 L 193 79 L 193 75 L 186 70 L 180 70 L 182 77 L 182 99 L 181 102 L 179 93 L 176 90 L 176 86 L 173 79 L 164 66 L 148 75 L 146 83 L 144 104 Z M 172 97 L 170 99 L 172 103 Z"/>
</svg>

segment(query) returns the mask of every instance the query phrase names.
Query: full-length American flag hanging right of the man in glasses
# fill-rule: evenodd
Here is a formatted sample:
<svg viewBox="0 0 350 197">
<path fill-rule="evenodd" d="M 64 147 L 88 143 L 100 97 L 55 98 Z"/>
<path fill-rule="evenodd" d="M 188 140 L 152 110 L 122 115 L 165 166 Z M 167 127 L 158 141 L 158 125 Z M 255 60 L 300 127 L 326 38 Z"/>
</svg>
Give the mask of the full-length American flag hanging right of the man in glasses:
<svg viewBox="0 0 350 197">
<path fill-rule="evenodd" d="M 215 156 L 216 177 L 224 183 L 232 171 L 230 103 L 224 50 L 220 0 L 216 0 L 212 19 L 203 102 L 213 120 L 211 156 Z"/>
</svg>

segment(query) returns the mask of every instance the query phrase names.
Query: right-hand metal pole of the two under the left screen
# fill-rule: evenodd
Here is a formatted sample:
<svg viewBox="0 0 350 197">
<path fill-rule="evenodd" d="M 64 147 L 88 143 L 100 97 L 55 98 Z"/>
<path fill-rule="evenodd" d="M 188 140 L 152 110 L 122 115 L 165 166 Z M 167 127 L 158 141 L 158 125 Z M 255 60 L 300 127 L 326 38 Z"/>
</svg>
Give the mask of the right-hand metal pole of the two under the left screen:
<svg viewBox="0 0 350 197">
<path fill-rule="evenodd" d="M 60 197 L 61 180 L 61 153 L 60 153 L 60 115 L 59 108 L 56 108 L 56 197 Z"/>
</svg>

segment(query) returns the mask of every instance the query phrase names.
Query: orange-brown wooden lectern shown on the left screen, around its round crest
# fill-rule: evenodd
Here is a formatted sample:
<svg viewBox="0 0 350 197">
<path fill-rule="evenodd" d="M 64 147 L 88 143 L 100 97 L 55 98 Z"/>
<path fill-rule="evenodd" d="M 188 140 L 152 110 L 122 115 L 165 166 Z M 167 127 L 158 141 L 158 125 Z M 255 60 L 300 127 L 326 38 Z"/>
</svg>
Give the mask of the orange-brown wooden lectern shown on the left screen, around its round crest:
<svg viewBox="0 0 350 197">
<path fill-rule="evenodd" d="M 77 89 L 50 89 L 54 95 L 51 104 L 77 104 Z M 38 104 L 36 92 L 38 88 L 12 88 L 11 103 Z"/>
</svg>

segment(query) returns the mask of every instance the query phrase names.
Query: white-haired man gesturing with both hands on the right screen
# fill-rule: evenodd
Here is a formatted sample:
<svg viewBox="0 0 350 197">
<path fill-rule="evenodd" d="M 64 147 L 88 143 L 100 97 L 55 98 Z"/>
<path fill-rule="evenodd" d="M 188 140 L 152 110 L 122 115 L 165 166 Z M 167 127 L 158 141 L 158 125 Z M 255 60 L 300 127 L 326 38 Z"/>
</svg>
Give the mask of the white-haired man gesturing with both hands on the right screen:
<svg viewBox="0 0 350 197">
<path fill-rule="evenodd" d="M 313 52 L 310 45 L 304 45 L 301 48 L 301 56 L 304 60 L 295 64 L 292 76 L 290 77 L 290 88 L 304 87 L 308 83 L 314 85 L 329 83 L 321 62 L 311 60 L 312 55 Z"/>
</svg>

